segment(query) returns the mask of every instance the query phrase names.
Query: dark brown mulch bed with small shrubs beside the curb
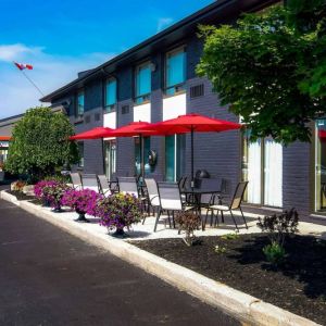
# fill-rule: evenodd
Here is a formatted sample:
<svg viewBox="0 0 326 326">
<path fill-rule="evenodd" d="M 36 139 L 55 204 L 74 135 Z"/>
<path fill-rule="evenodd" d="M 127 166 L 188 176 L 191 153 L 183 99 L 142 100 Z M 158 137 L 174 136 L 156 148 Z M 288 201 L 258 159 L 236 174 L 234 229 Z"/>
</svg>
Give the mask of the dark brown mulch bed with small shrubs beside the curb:
<svg viewBox="0 0 326 326">
<path fill-rule="evenodd" d="M 133 244 L 326 325 L 326 241 L 308 236 L 288 238 L 285 263 L 273 267 L 262 252 L 269 243 L 265 235 L 201 240 L 201 244 L 193 247 L 187 247 L 181 239 L 133 241 Z M 225 252 L 217 253 L 215 246 L 225 248 Z"/>
</svg>

